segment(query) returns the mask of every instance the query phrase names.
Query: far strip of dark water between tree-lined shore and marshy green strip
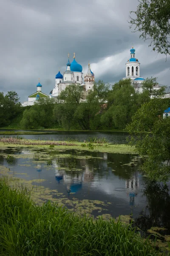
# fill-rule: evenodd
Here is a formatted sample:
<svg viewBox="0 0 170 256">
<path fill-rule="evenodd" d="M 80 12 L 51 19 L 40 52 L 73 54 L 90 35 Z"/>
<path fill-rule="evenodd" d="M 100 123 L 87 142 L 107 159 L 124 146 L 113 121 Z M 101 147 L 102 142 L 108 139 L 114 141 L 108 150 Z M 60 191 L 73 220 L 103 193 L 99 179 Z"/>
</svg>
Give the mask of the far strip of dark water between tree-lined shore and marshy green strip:
<svg viewBox="0 0 170 256">
<path fill-rule="evenodd" d="M 0 131 L 14 131 L 14 130 L 0 130 Z M 15 132 L 41 132 L 41 134 L 22 134 L 21 136 L 25 139 L 32 139 L 32 140 L 77 140 L 80 142 L 83 142 L 84 140 L 87 140 L 89 137 L 98 137 L 102 138 L 105 137 L 106 140 L 110 143 L 116 143 L 116 144 L 125 144 L 126 138 L 128 136 L 127 132 L 119 132 L 119 131 L 111 131 L 111 132 L 97 132 L 97 131 L 33 131 L 33 130 L 15 130 Z M 1 135 L 2 136 L 2 135 Z M 6 135 L 5 137 L 8 137 L 9 135 Z M 10 135 L 11 136 L 11 135 Z"/>
</svg>

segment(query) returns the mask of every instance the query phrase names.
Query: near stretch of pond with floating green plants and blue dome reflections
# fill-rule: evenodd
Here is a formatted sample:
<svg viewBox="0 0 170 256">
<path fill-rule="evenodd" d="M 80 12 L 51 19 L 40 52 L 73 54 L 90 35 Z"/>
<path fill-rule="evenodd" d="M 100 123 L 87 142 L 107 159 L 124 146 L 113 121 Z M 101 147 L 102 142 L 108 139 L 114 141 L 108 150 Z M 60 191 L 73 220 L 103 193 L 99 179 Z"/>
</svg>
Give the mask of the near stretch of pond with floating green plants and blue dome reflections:
<svg viewBox="0 0 170 256">
<path fill-rule="evenodd" d="M 9 163 L 8 155 L 14 157 L 13 162 Z M 55 148 L 0 150 L 0 175 L 34 180 L 31 185 L 51 189 L 52 198 L 68 209 L 83 209 L 104 218 L 132 214 L 142 230 L 163 226 L 170 232 L 170 183 L 166 187 L 151 184 L 139 172 L 140 164 L 135 154 Z M 41 197 L 48 200 L 46 190 Z"/>
</svg>

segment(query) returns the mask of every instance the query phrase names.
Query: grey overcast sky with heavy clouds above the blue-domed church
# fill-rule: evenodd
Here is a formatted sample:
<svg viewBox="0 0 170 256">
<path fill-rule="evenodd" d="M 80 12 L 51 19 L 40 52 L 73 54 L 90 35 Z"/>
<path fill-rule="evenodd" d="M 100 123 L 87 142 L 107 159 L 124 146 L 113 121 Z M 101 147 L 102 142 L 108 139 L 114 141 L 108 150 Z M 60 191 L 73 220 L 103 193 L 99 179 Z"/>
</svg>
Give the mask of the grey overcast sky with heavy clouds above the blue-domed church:
<svg viewBox="0 0 170 256">
<path fill-rule="evenodd" d="M 76 61 L 95 79 L 114 84 L 125 77 L 130 48 L 136 49 L 140 76 L 157 77 L 170 86 L 170 56 L 153 52 L 149 42 L 129 28 L 129 12 L 137 0 L 1 0 L 0 91 L 15 90 L 21 102 L 36 91 L 49 94 L 55 76 Z"/>
</svg>

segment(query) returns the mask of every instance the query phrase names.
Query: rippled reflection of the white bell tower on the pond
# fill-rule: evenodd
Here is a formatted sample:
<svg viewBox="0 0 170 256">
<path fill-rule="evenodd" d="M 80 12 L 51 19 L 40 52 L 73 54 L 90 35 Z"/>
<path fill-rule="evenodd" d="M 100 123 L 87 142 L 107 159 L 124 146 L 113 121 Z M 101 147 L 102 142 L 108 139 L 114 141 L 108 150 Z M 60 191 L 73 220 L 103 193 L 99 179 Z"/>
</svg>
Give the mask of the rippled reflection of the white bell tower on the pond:
<svg viewBox="0 0 170 256">
<path fill-rule="evenodd" d="M 129 196 L 130 206 L 135 205 L 135 197 L 139 189 L 139 177 L 135 174 L 131 179 L 125 181 L 125 188 L 127 189 L 127 196 Z"/>
</svg>

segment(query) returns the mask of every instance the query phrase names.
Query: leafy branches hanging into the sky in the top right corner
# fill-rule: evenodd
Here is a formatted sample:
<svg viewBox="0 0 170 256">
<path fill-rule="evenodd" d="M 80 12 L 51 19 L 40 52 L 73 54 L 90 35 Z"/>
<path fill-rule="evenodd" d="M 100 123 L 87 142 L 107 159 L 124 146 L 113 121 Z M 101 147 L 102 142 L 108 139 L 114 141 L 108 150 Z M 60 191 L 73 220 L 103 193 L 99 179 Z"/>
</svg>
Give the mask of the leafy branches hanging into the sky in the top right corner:
<svg viewBox="0 0 170 256">
<path fill-rule="evenodd" d="M 150 39 L 153 51 L 170 54 L 170 1 L 140 0 L 137 10 L 130 13 L 136 16 L 130 17 L 130 28 L 135 25 L 140 38 Z"/>
</svg>

